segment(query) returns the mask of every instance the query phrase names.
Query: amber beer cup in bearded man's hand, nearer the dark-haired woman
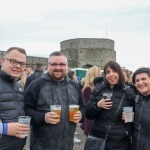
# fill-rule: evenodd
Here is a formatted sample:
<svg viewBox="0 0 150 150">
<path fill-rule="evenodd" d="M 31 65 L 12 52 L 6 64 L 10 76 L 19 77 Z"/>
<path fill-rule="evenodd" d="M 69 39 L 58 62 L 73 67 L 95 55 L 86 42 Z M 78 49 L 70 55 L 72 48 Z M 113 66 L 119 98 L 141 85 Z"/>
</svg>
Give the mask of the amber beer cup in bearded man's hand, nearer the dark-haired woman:
<svg viewBox="0 0 150 150">
<path fill-rule="evenodd" d="M 69 118 L 70 121 L 76 121 L 75 119 L 73 119 L 74 114 L 76 114 L 76 112 L 79 111 L 79 105 L 69 105 Z"/>
</svg>

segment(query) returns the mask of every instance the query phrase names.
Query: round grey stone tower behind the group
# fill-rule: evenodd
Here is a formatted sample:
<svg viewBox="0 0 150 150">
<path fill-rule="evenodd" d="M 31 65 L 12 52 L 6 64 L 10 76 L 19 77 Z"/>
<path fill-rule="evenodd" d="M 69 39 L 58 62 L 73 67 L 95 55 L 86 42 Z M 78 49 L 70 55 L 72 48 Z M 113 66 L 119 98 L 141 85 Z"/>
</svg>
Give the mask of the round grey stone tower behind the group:
<svg viewBox="0 0 150 150">
<path fill-rule="evenodd" d="M 69 39 L 62 41 L 60 46 L 71 68 L 89 68 L 93 65 L 103 68 L 108 61 L 116 61 L 114 41 L 110 39 Z"/>
</svg>

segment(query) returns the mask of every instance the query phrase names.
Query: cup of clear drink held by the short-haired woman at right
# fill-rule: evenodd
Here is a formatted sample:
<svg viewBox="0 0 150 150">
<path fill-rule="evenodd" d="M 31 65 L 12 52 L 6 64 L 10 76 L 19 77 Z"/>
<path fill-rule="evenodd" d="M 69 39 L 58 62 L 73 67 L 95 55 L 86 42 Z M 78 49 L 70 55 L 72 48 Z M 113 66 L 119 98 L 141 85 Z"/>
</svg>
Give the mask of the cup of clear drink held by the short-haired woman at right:
<svg viewBox="0 0 150 150">
<path fill-rule="evenodd" d="M 125 122 L 133 122 L 133 107 L 123 107 Z"/>
</svg>

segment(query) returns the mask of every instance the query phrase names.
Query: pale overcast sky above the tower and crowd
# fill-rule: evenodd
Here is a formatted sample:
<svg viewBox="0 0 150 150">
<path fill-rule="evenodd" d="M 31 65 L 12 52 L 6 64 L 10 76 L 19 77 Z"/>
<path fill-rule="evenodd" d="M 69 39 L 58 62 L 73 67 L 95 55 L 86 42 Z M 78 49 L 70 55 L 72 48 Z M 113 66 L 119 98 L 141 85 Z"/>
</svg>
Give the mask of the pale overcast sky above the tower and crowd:
<svg viewBox="0 0 150 150">
<path fill-rule="evenodd" d="M 48 57 L 74 38 L 112 39 L 122 67 L 150 67 L 150 0 L 0 0 L 0 50 Z"/>
</svg>

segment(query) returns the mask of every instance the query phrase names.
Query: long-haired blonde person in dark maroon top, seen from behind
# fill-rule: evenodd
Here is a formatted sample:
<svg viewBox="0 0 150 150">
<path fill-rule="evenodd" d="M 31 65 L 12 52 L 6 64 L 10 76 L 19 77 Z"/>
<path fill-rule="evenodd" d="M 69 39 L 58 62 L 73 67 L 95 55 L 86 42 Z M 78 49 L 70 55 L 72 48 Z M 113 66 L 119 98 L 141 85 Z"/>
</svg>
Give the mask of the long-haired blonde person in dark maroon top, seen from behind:
<svg viewBox="0 0 150 150">
<path fill-rule="evenodd" d="M 82 89 L 82 95 L 85 104 L 89 102 L 89 98 L 94 87 L 94 83 L 93 83 L 94 78 L 100 75 L 101 75 L 101 69 L 99 67 L 93 66 L 88 69 L 85 77 L 84 87 Z M 85 118 L 83 123 L 80 126 L 86 136 L 88 136 L 91 131 L 92 123 L 93 120 L 89 120 Z"/>
</svg>

